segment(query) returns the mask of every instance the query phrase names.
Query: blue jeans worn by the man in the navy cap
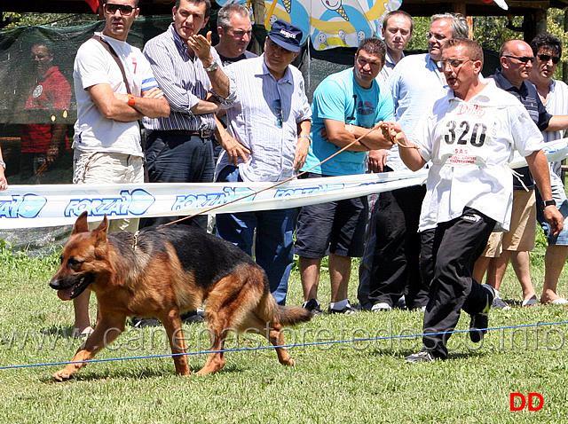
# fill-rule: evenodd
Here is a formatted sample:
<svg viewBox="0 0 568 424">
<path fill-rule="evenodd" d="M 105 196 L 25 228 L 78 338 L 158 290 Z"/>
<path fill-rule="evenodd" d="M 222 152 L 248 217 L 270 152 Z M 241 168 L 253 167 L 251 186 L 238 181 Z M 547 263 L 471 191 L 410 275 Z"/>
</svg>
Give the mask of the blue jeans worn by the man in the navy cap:
<svg viewBox="0 0 568 424">
<path fill-rule="evenodd" d="M 222 169 L 217 182 L 242 181 L 239 169 L 229 165 Z M 217 236 L 232 242 L 252 256 L 268 276 L 270 291 L 280 305 L 286 304 L 288 277 L 294 263 L 293 233 L 297 208 L 259 210 L 238 214 L 217 214 Z M 256 242 L 255 242 L 256 230 Z"/>
</svg>

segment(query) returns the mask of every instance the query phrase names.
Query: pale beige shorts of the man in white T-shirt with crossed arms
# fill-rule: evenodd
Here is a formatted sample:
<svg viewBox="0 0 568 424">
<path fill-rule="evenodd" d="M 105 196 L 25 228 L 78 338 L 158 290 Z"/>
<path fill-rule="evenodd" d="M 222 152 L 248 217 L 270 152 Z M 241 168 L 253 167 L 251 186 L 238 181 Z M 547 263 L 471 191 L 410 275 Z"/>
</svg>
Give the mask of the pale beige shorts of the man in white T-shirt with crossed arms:
<svg viewBox="0 0 568 424">
<path fill-rule="evenodd" d="M 73 157 L 73 184 L 144 183 L 144 159 L 122 153 L 81 152 Z M 109 219 L 107 232 L 137 232 L 138 218 Z M 97 228 L 100 221 L 90 222 Z"/>
</svg>

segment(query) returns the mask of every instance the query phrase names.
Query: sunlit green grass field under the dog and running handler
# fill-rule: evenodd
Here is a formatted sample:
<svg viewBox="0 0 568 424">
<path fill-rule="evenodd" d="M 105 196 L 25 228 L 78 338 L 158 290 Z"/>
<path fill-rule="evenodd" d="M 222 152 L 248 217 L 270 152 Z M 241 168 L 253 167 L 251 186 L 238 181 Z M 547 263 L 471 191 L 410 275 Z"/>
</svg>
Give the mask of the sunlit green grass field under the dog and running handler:
<svg viewBox="0 0 568 424">
<path fill-rule="evenodd" d="M 542 285 L 543 242 L 533 255 L 533 282 Z M 80 342 L 68 337 L 71 302 L 59 301 L 48 282 L 56 255 L 28 258 L 0 251 L 0 365 L 29 365 L 71 359 Z M 356 271 L 354 269 L 354 271 Z M 320 298 L 329 298 L 327 273 Z M 563 273 L 560 294 L 568 295 Z M 356 272 L 351 277 L 355 300 Z M 502 297 L 520 302 L 520 286 L 508 271 Z M 302 302 L 297 271 L 289 304 Z M 325 306 L 325 305 L 324 305 Z M 91 316 L 96 304 L 91 302 Z M 568 321 L 562 306 L 492 310 L 490 326 Z M 458 330 L 469 326 L 461 317 Z M 281 366 L 273 349 L 225 354 L 216 375 L 177 377 L 170 357 L 87 365 L 65 383 L 51 382 L 58 365 L 0 370 L 0 422 L 187 423 L 187 422 L 355 422 L 355 423 L 524 423 L 568 422 L 568 341 L 564 324 L 494 330 L 479 345 L 467 334 L 450 340 L 450 359 L 406 364 L 403 356 L 420 349 L 419 338 L 319 344 L 291 349 L 296 367 Z M 207 349 L 205 326 L 185 326 L 192 351 Z M 324 314 L 287 334 L 289 343 L 420 334 L 422 313 L 393 310 L 354 316 Z M 247 336 L 227 349 L 265 346 Z M 162 330 L 125 334 L 97 358 L 167 354 Z M 204 355 L 189 357 L 192 371 Z M 509 411 L 511 392 L 540 393 L 540 411 Z M 517 403 L 518 404 L 518 403 Z"/>
</svg>

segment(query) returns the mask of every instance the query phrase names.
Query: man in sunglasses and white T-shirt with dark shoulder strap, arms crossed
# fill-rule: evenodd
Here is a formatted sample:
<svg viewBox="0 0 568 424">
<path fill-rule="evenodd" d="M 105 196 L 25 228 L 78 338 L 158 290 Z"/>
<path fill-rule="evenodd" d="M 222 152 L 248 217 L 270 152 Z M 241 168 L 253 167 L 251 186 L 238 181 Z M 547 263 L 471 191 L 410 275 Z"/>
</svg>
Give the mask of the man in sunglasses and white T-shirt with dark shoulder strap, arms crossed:
<svg viewBox="0 0 568 424">
<path fill-rule="evenodd" d="M 168 101 L 142 51 L 126 43 L 138 13 L 138 0 L 104 1 L 105 27 L 101 33 L 95 33 L 100 40 L 91 38 L 77 51 L 73 71 L 77 98 L 75 184 L 144 183 L 138 120 L 170 114 Z M 108 232 L 137 230 L 138 219 L 109 222 Z M 78 334 L 92 331 L 90 294 L 85 290 L 74 300 Z"/>
</svg>

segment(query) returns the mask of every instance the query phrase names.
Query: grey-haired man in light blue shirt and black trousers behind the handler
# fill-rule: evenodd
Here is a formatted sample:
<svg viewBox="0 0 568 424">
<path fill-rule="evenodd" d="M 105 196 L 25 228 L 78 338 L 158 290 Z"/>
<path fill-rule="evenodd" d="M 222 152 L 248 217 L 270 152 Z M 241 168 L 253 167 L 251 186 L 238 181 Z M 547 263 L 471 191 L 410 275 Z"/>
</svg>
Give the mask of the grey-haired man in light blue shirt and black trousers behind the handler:
<svg viewBox="0 0 568 424">
<path fill-rule="evenodd" d="M 437 66 L 442 47 L 452 37 L 468 36 L 468 22 L 460 13 L 433 15 L 430 21 L 428 53 L 401 59 L 389 80 L 395 119 L 406 134 L 412 134 L 424 110 L 446 94 L 446 79 Z M 397 145 L 388 152 L 384 170 L 407 171 Z M 367 306 L 371 310 L 391 310 L 403 295 L 408 309 L 423 310 L 428 302 L 431 234 L 417 231 L 425 192 L 423 185 L 407 187 L 382 192 L 375 202 L 375 249 Z M 422 243 L 421 237 L 426 242 Z M 365 303 L 363 295 L 359 299 Z"/>
</svg>

